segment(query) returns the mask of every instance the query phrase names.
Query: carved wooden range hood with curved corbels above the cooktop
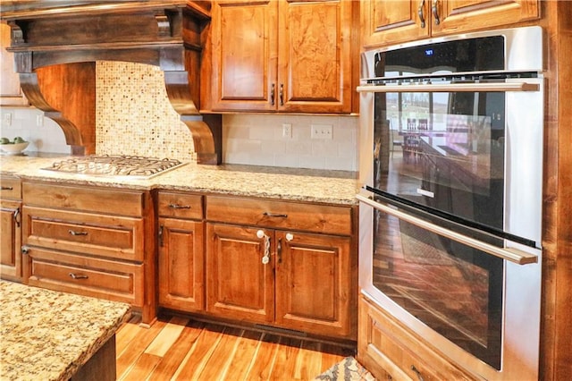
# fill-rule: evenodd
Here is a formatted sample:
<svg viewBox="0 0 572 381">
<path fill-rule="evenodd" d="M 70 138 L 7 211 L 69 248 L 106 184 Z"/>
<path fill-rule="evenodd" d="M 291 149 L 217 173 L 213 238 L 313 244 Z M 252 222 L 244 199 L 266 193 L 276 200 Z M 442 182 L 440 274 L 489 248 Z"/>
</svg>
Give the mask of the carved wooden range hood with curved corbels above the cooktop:
<svg viewBox="0 0 572 381">
<path fill-rule="evenodd" d="M 73 155 L 96 149 L 96 61 L 159 66 L 199 164 L 221 163 L 222 117 L 199 114 L 210 1 L 42 0 L 0 3 L 15 72 L 32 106 L 58 123 Z"/>
</svg>

